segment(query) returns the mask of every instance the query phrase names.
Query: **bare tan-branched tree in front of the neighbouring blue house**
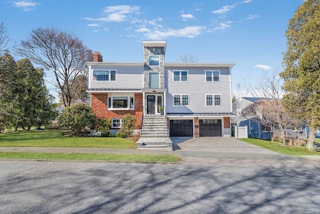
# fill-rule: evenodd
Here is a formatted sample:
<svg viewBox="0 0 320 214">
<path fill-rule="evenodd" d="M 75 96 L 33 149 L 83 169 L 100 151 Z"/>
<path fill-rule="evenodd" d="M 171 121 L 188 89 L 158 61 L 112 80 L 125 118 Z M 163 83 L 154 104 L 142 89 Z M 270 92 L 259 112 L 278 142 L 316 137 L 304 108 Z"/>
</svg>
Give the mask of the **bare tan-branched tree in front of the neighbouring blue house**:
<svg viewBox="0 0 320 214">
<path fill-rule="evenodd" d="M 254 86 L 249 84 L 249 87 L 250 93 L 254 97 L 259 97 L 260 100 L 242 112 L 246 114 L 246 117 L 253 116 L 252 114 L 256 115 L 256 121 L 260 122 L 267 129 L 272 128 L 273 135 L 271 139 L 273 140 L 276 137 L 277 130 L 280 130 L 281 141 L 285 143 L 285 130 L 288 127 L 292 127 L 292 118 L 284 110 L 280 102 L 283 92 L 278 71 L 273 70 L 270 72 L 263 70 L 260 80 Z"/>
</svg>

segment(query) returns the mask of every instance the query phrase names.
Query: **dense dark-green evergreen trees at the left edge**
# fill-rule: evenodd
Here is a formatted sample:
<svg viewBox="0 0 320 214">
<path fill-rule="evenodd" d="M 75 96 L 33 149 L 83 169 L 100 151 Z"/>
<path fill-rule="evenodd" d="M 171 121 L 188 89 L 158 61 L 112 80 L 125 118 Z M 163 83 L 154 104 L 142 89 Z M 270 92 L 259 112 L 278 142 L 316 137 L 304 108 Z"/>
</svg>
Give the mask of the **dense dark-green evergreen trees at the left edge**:
<svg viewBox="0 0 320 214">
<path fill-rule="evenodd" d="M 0 56 L 1 68 L 1 113 L 2 126 L 40 126 L 53 119 L 56 112 L 52 97 L 44 85 L 42 69 L 35 69 L 29 59 L 14 61 L 12 56 Z"/>
</svg>

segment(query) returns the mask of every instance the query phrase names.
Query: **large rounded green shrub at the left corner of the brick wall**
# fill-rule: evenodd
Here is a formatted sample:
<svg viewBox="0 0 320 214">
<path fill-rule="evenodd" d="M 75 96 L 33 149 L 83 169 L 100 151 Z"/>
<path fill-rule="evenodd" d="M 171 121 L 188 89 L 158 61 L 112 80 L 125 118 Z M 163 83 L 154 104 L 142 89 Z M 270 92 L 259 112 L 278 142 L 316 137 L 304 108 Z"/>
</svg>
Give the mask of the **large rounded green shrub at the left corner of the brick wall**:
<svg viewBox="0 0 320 214">
<path fill-rule="evenodd" d="M 70 135 L 79 135 L 85 131 L 85 127 L 95 127 L 96 115 L 90 106 L 83 103 L 65 107 L 63 112 L 57 117 L 59 125 L 68 127 Z"/>
</svg>

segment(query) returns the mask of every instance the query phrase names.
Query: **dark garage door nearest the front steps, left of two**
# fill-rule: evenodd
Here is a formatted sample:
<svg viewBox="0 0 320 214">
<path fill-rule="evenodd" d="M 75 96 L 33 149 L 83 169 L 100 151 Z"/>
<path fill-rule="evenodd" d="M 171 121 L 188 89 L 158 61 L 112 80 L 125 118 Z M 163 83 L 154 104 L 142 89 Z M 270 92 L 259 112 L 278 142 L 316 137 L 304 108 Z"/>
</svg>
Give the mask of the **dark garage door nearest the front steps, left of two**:
<svg viewBox="0 0 320 214">
<path fill-rule="evenodd" d="M 192 119 L 172 119 L 169 125 L 170 136 L 193 136 Z"/>
</svg>

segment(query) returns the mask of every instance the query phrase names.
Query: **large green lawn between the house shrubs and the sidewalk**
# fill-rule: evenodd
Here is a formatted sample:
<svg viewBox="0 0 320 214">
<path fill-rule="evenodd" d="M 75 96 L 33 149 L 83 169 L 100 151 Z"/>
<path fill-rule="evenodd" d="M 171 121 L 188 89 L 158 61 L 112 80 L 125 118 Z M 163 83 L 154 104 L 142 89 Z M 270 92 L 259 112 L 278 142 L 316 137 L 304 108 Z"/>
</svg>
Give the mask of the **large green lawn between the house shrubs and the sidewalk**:
<svg viewBox="0 0 320 214">
<path fill-rule="evenodd" d="M 121 137 L 67 136 L 65 130 L 31 130 L 0 133 L 0 146 L 135 148 Z"/>
</svg>

